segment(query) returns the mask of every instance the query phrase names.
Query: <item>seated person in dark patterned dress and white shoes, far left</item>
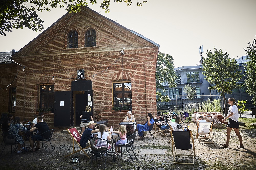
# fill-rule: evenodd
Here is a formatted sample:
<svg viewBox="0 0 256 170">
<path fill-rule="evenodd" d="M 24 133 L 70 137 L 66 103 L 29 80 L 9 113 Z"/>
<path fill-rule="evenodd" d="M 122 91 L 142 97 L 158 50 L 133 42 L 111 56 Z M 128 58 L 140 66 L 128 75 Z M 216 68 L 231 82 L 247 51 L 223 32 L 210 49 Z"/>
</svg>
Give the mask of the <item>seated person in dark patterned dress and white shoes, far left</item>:
<svg viewBox="0 0 256 170">
<path fill-rule="evenodd" d="M 24 148 L 24 147 L 22 147 L 23 150 L 20 150 L 21 145 L 23 145 L 24 143 L 24 139 L 21 136 L 19 136 L 19 135 L 23 135 L 23 133 L 26 133 L 27 131 L 29 131 L 28 128 L 26 128 L 25 126 L 22 125 L 22 123 L 20 123 L 20 117 L 15 117 L 13 124 L 10 125 L 9 133 L 17 136 L 16 140 L 17 142 L 19 142 L 17 153 L 22 153 L 23 150 L 25 151 L 28 150 L 27 148 Z"/>
</svg>

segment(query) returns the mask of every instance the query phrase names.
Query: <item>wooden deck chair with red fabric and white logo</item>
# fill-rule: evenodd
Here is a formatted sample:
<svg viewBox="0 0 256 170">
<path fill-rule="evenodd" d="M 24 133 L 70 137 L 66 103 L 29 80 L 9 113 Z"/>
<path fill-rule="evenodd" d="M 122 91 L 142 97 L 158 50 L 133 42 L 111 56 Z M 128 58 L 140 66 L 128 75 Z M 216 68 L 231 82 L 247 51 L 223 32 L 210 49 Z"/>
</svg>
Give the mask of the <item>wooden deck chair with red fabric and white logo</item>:
<svg viewBox="0 0 256 170">
<path fill-rule="evenodd" d="M 90 145 L 88 147 L 85 147 L 85 148 L 81 147 L 81 145 L 80 145 L 81 134 L 79 133 L 77 128 L 67 129 L 67 131 L 69 132 L 69 134 L 73 138 L 73 152 L 69 155 L 64 156 L 64 157 L 70 156 L 70 155 L 75 154 L 79 151 L 83 151 L 84 154 L 88 157 L 88 159 L 90 159 L 90 156 L 88 156 L 87 153 L 84 151 L 85 149 L 90 148 Z M 80 149 L 76 150 L 76 151 L 75 151 L 75 141 L 76 141 L 77 145 L 80 147 Z"/>
</svg>

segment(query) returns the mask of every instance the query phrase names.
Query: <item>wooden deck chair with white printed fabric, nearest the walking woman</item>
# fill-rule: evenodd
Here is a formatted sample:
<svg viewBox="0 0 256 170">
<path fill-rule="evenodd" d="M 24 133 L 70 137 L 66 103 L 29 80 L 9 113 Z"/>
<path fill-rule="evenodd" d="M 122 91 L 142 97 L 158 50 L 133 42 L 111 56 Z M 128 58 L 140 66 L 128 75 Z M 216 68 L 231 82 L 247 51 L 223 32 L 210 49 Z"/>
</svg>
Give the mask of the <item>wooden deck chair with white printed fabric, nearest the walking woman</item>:
<svg viewBox="0 0 256 170">
<path fill-rule="evenodd" d="M 199 137 L 199 135 L 206 135 L 206 137 Z M 198 139 L 200 143 L 214 143 L 212 139 L 212 122 L 197 122 L 196 139 Z M 201 139 L 208 140 L 202 141 Z"/>
</svg>

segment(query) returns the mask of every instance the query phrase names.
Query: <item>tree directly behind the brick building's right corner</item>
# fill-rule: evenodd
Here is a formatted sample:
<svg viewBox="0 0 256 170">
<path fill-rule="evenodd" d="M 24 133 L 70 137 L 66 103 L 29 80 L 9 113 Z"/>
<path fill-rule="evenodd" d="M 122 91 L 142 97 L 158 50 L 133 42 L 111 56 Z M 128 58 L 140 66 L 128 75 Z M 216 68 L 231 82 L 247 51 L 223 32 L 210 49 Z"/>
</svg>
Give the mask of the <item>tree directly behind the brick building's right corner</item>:
<svg viewBox="0 0 256 170">
<path fill-rule="evenodd" d="M 168 82 L 169 87 L 176 87 L 175 79 L 177 78 L 174 70 L 173 70 L 173 57 L 168 53 L 165 55 L 164 53 L 159 52 L 156 66 L 156 88 L 160 88 L 165 91 L 162 86 L 162 82 Z M 160 92 L 157 92 L 158 101 L 170 101 L 168 96 L 162 96 Z"/>
</svg>

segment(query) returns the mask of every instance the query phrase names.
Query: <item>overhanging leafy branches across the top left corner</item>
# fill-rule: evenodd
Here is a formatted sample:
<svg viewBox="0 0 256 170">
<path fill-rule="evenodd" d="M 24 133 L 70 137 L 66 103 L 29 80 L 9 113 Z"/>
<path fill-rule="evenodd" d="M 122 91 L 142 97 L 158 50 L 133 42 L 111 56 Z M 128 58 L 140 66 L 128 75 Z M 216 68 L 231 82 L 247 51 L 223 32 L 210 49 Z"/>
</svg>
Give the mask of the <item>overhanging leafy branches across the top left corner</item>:
<svg viewBox="0 0 256 170">
<path fill-rule="evenodd" d="M 115 2 L 124 2 L 131 6 L 132 0 L 114 0 Z M 146 3 L 148 0 L 142 1 Z M 12 32 L 13 28 L 27 27 L 29 30 L 42 31 L 44 30 L 44 21 L 37 15 L 36 10 L 50 11 L 48 5 L 52 8 L 66 8 L 71 13 L 80 12 L 81 6 L 87 6 L 88 3 L 96 4 L 96 0 L 2 0 L 0 3 L 0 35 L 6 35 L 5 32 Z M 109 13 L 110 0 L 103 0 L 100 7 Z M 142 6 L 142 3 L 137 2 L 137 6 Z"/>
</svg>

